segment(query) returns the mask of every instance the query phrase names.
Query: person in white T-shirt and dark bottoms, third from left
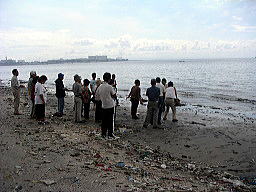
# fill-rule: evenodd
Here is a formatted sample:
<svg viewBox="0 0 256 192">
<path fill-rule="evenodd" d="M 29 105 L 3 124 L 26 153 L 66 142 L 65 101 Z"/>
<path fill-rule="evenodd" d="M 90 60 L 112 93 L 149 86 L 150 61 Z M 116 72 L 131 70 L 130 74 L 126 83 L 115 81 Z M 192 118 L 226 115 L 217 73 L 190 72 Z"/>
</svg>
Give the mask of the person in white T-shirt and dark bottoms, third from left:
<svg viewBox="0 0 256 192">
<path fill-rule="evenodd" d="M 39 77 L 38 82 L 35 85 L 35 115 L 38 123 L 45 122 L 45 103 L 46 103 L 46 88 L 44 83 L 47 81 L 47 77 L 42 75 Z"/>
</svg>

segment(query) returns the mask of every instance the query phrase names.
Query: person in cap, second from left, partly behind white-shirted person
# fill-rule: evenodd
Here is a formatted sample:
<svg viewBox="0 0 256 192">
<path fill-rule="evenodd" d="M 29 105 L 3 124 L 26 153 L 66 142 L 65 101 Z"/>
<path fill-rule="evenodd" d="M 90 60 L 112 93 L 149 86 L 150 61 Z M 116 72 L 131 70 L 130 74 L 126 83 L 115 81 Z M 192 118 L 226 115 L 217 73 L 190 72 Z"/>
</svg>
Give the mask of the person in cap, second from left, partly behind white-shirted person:
<svg viewBox="0 0 256 192">
<path fill-rule="evenodd" d="M 30 113 L 30 117 L 31 118 L 35 118 L 35 84 L 37 82 L 33 82 L 33 80 L 35 81 L 36 78 L 36 72 L 35 71 L 31 71 L 30 72 L 30 77 L 28 80 L 28 96 L 30 98 L 31 101 L 31 113 Z"/>
</svg>

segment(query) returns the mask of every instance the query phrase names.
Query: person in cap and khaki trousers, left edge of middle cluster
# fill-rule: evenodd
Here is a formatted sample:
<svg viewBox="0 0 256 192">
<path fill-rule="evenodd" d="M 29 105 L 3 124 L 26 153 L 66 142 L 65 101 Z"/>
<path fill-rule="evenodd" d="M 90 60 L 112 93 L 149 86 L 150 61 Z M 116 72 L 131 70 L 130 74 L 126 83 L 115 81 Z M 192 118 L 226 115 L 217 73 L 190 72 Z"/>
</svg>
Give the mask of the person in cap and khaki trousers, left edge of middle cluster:
<svg viewBox="0 0 256 192">
<path fill-rule="evenodd" d="M 74 93 L 74 102 L 75 102 L 75 106 L 74 106 L 74 116 L 75 116 L 75 122 L 76 123 L 82 123 L 82 84 L 81 84 L 81 77 L 79 75 L 75 75 L 74 76 L 74 81 L 75 83 L 73 84 L 73 93 Z"/>
</svg>

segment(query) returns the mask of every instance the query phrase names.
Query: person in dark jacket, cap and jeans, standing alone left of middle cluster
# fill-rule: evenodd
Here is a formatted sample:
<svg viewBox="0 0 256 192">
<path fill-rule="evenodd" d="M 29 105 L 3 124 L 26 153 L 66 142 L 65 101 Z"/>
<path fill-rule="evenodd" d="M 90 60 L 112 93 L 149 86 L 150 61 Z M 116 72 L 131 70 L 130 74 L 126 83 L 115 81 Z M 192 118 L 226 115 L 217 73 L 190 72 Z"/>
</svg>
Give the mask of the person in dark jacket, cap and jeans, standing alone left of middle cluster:
<svg viewBox="0 0 256 192">
<path fill-rule="evenodd" d="M 59 73 L 58 79 L 55 80 L 55 86 L 56 86 L 56 97 L 58 98 L 58 112 L 57 116 L 61 117 L 63 115 L 64 110 L 64 97 L 66 96 L 66 88 L 63 84 L 64 74 Z"/>
</svg>

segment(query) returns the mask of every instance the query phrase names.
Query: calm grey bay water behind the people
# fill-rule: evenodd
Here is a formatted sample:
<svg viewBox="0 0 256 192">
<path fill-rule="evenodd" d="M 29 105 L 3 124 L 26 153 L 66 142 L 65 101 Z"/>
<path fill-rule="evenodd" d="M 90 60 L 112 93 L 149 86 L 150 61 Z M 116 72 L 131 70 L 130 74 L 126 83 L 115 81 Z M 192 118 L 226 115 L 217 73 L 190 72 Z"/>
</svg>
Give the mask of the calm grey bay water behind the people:
<svg viewBox="0 0 256 192">
<path fill-rule="evenodd" d="M 46 86 L 54 90 L 57 74 L 65 74 L 64 83 L 72 87 L 73 76 L 91 79 L 96 72 L 102 79 L 104 72 L 116 74 L 121 101 L 140 79 L 142 93 L 150 86 L 150 79 L 159 76 L 173 81 L 182 102 L 182 110 L 224 114 L 227 117 L 256 119 L 256 59 L 203 59 L 168 61 L 126 61 L 107 63 L 74 63 L 51 65 L 0 66 L 2 83 L 9 84 L 11 70 L 17 68 L 19 79 L 27 81 L 35 70 L 48 77 Z M 145 97 L 145 96 L 144 96 Z"/>
</svg>

